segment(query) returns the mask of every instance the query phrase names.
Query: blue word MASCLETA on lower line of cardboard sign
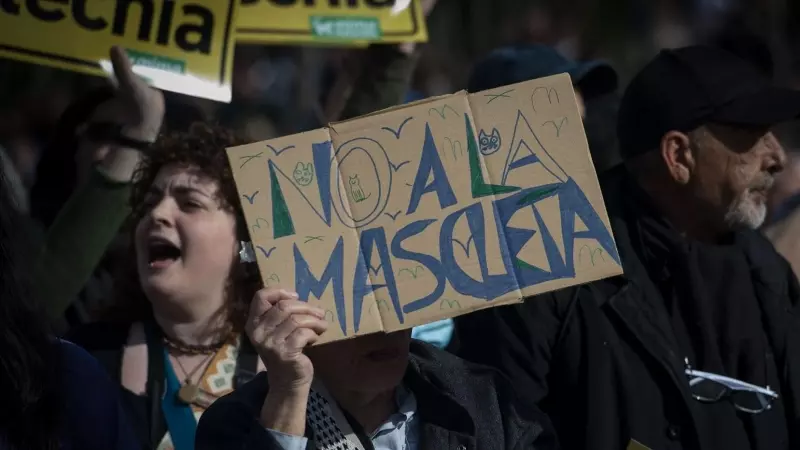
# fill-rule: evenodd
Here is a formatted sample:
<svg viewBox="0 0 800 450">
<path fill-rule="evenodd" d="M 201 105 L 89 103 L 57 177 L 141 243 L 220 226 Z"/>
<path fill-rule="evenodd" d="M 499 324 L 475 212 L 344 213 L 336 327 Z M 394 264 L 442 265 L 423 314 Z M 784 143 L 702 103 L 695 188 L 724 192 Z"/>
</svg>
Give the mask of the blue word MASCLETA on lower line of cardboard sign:
<svg viewBox="0 0 800 450">
<path fill-rule="evenodd" d="M 566 183 L 558 183 L 551 186 L 553 188 L 547 195 L 538 197 L 535 202 L 526 203 L 520 200 L 534 190 L 541 190 L 542 187 L 528 188 L 520 190 L 508 197 L 497 199 L 492 203 L 493 220 L 498 230 L 499 241 L 501 242 L 500 255 L 505 268 L 505 273 L 490 274 L 488 269 L 486 252 L 486 217 L 480 203 L 475 203 L 466 208 L 450 213 L 441 223 L 439 231 L 439 255 L 441 260 L 435 256 L 427 255 L 406 250 L 403 243 L 415 236 L 422 235 L 436 219 L 425 219 L 411 222 L 395 233 L 390 247 L 387 245 L 386 232 L 382 227 L 371 228 L 361 231 L 360 249 L 355 268 L 355 281 L 353 285 L 353 313 L 355 331 L 360 328 L 360 318 L 363 311 L 364 297 L 378 289 L 388 289 L 393 309 L 400 323 L 403 323 L 404 315 L 424 309 L 437 300 L 444 293 L 446 284 L 450 285 L 457 292 L 463 295 L 482 298 L 487 301 L 498 298 L 509 292 L 524 289 L 546 281 L 572 278 L 575 276 L 573 250 L 576 239 L 593 239 L 597 241 L 603 250 L 611 258 L 620 264 L 619 254 L 617 253 L 611 233 L 603 224 L 600 216 L 589 203 L 586 196 L 578 187 L 573 179 L 568 179 Z M 538 201 L 549 197 L 557 196 L 561 204 L 561 230 L 554 234 L 549 230 L 542 219 L 538 210 Z M 550 266 L 550 270 L 535 267 L 524 261 L 519 260 L 516 255 L 532 239 L 537 231 L 514 228 L 508 225 L 511 218 L 525 209 L 530 210 L 538 225 L 538 232 L 544 244 L 545 256 Z M 481 280 L 476 280 L 468 275 L 459 266 L 455 256 L 454 230 L 460 218 L 466 218 L 467 225 L 475 245 L 475 258 L 477 266 L 480 268 Z M 575 217 L 578 217 L 586 225 L 586 230 L 575 231 Z M 556 244 L 556 236 L 561 236 L 565 250 L 565 258 L 562 258 Z M 379 261 L 377 264 L 371 260 L 373 250 L 377 249 Z M 344 291 L 343 291 L 343 261 L 345 261 L 344 246 L 342 238 L 336 244 L 331 258 L 322 276 L 315 277 L 308 267 L 308 263 L 303 258 L 302 253 L 295 245 L 295 273 L 296 291 L 301 298 L 314 294 L 316 297 L 322 295 L 328 284 L 333 284 L 333 294 L 337 308 L 337 315 L 342 331 L 347 335 L 347 320 L 345 313 Z M 394 276 L 392 258 L 398 260 L 414 261 L 425 267 L 436 279 L 436 288 L 428 295 L 420 299 L 415 299 L 402 306 L 397 289 L 397 282 Z M 369 267 L 379 267 L 383 271 L 384 284 L 372 284 L 369 277 Z M 376 271 L 377 272 L 377 271 Z"/>
</svg>

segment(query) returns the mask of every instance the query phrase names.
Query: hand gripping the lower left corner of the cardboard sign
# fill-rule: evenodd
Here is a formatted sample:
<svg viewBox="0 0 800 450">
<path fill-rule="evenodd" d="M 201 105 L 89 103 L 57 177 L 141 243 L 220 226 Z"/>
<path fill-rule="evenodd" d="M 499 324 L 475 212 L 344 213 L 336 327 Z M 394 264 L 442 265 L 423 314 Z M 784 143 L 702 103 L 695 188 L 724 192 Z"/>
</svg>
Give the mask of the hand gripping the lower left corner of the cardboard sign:
<svg viewBox="0 0 800 450">
<path fill-rule="evenodd" d="M 325 312 L 282 289 L 261 289 L 250 305 L 245 330 L 267 367 L 270 392 L 308 392 L 314 378 L 303 353 L 328 328 Z"/>
</svg>

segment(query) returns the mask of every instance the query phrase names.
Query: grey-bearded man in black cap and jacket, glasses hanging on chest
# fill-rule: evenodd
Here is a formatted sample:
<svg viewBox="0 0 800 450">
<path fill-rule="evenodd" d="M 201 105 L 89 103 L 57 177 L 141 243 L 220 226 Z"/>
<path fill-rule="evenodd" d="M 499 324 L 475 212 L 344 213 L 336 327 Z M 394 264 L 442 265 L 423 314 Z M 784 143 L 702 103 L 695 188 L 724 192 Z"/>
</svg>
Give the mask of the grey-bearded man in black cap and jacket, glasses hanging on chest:
<svg viewBox="0 0 800 450">
<path fill-rule="evenodd" d="M 531 395 L 564 449 L 800 448 L 800 288 L 755 231 L 786 160 L 770 128 L 798 114 L 733 54 L 662 51 L 601 179 L 624 275 L 465 316 L 462 356 Z"/>
</svg>

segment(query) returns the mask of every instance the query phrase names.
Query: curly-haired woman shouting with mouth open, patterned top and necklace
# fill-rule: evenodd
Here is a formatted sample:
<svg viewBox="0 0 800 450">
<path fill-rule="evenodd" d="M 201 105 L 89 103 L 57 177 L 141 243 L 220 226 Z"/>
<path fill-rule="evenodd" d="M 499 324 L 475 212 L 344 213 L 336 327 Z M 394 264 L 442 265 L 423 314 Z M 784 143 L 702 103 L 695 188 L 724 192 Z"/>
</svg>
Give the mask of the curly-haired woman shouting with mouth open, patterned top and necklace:
<svg viewBox="0 0 800 450">
<path fill-rule="evenodd" d="M 147 447 L 194 448 L 200 414 L 258 366 L 240 334 L 260 285 L 239 259 L 246 237 L 221 128 L 163 135 L 135 177 L 129 264 L 117 320 L 72 339 L 117 373 Z"/>
</svg>

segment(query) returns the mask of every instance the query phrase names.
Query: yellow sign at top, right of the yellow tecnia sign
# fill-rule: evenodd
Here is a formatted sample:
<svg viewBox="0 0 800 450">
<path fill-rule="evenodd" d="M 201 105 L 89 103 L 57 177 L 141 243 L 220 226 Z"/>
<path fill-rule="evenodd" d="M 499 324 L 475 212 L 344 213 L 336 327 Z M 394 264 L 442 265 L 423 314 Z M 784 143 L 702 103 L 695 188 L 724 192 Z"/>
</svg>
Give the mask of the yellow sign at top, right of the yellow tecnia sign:
<svg viewBox="0 0 800 450">
<path fill-rule="evenodd" d="M 237 42 L 425 42 L 419 0 L 242 0 Z"/>
</svg>

